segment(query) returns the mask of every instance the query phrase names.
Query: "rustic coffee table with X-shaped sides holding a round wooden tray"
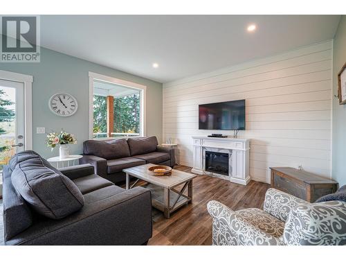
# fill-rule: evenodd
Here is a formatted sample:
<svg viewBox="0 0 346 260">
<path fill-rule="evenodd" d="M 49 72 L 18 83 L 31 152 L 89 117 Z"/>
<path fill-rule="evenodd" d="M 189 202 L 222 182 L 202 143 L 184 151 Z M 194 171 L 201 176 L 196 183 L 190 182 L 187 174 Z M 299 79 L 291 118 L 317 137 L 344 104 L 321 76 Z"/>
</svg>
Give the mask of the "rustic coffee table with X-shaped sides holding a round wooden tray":
<svg viewBox="0 0 346 260">
<path fill-rule="evenodd" d="M 148 170 L 151 166 L 155 164 L 144 164 L 122 170 L 126 173 L 126 189 L 134 187 L 138 180 L 144 180 L 147 184 L 142 187 L 152 191 L 152 206 L 163 211 L 166 218 L 170 218 L 173 211 L 192 202 L 192 179 L 197 175 L 172 169 L 170 176 L 153 176 Z M 131 187 L 130 176 L 138 178 Z M 182 184 L 183 187 L 177 190 L 176 187 Z M 186 189 L 187 192 L 185 192 Z"/>
</svg>

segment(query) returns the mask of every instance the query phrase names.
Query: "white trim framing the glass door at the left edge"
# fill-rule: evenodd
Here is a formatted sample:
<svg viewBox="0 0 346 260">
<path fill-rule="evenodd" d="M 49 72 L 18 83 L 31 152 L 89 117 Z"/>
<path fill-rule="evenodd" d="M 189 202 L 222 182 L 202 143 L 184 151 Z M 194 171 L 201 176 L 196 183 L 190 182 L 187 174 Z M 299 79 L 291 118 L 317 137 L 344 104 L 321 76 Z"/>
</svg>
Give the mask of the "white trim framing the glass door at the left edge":
<svg viewBox="0 0 346 260">
<path fill-rule="evenodd" d="M 24 84 L 25 149 L 33 150 L 33 76 L 0 70 L 0 79 Z"/>
</svg>

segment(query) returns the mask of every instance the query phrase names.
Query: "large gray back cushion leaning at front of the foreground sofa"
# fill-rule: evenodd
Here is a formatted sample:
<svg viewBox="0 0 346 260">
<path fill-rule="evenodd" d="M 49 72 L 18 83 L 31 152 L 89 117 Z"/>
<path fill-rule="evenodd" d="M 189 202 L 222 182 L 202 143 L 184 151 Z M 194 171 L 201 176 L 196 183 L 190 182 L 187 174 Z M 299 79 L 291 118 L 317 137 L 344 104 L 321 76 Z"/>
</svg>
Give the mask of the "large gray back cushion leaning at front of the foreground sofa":
<svg viewBox="0 0 346 260">
<path fill-rule="evenodd" d="M 64 218 L 84 205 L 78 187 L 39 155 L 19 162 L 11 180 L 24 200 L 48 218 Z"/>
</svg>

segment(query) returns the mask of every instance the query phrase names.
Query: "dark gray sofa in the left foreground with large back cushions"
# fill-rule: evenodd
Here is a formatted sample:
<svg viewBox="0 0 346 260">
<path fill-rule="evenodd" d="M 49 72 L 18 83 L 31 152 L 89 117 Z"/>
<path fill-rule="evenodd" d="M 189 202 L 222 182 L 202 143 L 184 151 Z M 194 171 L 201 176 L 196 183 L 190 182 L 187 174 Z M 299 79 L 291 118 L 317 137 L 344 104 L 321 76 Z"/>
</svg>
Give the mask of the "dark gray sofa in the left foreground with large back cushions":
<svg viewBox="0 0 346 260">
<path fill-rule="evenodd" d="M 3 170 L 6 245 L 143 245 L 152 237 L 149 190 L 125 190 L 90 164 L 58 171 L 33 151 Z"/>
</svg>

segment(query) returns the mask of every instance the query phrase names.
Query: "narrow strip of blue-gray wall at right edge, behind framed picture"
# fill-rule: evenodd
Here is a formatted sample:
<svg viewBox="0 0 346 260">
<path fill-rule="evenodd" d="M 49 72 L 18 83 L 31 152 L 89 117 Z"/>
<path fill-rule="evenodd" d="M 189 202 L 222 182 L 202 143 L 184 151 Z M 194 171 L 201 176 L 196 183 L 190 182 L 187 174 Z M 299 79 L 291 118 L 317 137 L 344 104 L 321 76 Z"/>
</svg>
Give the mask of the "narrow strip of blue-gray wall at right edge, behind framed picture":
<svg viewBox="0 0 346 260">
<path fill-rule="evenodd" d="M 333 55 L 333 95 L 338 94 L 338 72 L 346 62 L 346 16 L 340 19 L 338 31 L 334 37 Z M 333 148 L 331 176 L 346 184 L 346 105 L 339 105 L 338 99 L 333 97 Z"/>
</svg>

